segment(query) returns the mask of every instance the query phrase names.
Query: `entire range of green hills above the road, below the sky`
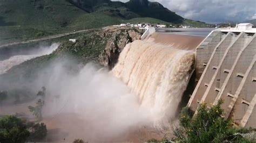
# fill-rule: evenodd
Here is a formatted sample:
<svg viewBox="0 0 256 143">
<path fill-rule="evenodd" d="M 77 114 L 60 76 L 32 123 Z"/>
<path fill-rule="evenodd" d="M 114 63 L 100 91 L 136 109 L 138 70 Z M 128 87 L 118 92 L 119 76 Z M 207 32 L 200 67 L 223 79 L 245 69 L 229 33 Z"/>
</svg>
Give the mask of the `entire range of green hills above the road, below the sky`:
<svg viewBox="0 0 256 143">
<path fill-rule="evenodd" d="M 205 23 L 184 20 L 157 2 L 132 0 L 2 0 L 0 45 L 120 23 Z M 198 26 L 200 27 L 200 26 Z"/>
</svg>

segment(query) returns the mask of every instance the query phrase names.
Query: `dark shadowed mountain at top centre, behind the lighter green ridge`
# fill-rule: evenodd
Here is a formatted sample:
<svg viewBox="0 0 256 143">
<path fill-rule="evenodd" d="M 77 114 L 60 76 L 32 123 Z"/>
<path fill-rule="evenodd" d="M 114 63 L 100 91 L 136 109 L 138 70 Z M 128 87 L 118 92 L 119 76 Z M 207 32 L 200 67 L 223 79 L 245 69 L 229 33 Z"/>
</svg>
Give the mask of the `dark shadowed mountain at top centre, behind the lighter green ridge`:
<svg viewBox="0 0 256 143">
<path fill-rule="evenodd" d="M 130 0 L 127 3 L 110 0 L 69 0 L 70 3 L 86 12 L 100 12 L 124 19 L 150 17 L 170 23 L 181 23 L 184 18 L 164 8 L 158 2 L 148 0 Z"/>
</svg>

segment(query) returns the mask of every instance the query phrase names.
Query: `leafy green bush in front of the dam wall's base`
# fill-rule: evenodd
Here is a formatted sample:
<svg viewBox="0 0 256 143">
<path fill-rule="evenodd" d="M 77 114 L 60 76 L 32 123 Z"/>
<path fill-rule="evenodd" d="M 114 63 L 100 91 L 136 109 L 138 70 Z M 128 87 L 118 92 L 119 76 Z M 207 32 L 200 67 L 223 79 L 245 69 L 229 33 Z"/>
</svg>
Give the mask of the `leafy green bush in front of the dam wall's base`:
<svg viewBox="0 0 256 143">
<path fill-rule="evenodd" d="M 212 108 L 200 104 L 198 113 L 192 114 L 185 108 L 181 111 L 180 128 L 174 131 L 181 142 L 250 142 L 242 137 L 232 126 L 231 119 L 225 119 L 224 110 L 220 108 L 223 101 L 219 101 Z"/>
</svg>

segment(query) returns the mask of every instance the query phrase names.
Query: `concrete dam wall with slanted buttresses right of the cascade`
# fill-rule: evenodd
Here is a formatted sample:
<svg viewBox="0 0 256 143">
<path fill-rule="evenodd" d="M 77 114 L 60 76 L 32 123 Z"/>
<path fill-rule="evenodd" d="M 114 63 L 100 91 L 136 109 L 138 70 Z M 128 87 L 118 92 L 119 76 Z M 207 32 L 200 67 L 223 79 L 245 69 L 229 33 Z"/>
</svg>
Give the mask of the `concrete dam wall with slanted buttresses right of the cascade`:
<svg viewBox="0 0 256 143">
<path fill-rule="evenodd" d="M 196 89 L 187 106 L 197 113 L 200 103 L 219 99 L 225 118 L 234 125 L 256 127 L 256 32 L 217 29 L 196 48 Z"/>
</svg>

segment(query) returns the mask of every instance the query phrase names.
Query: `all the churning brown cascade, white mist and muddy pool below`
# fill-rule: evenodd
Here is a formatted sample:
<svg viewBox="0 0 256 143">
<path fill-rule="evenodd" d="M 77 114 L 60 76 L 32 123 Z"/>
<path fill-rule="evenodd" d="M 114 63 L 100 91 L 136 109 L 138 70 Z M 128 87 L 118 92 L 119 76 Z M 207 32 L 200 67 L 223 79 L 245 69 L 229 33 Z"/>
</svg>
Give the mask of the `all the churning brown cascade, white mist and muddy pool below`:
<svg viewBox="0 0 256 143">
<path fill-rule="evenodd" d="M 164 138 L 162 129 L 170 127 L 169 120 L 175 118 L 193 69 L 190 43 L 180 43 L 175 39 L 168 45 L 136 40 L 125 46 L 111 71 L 89 63 L 70 74 L 63 60 L 42 69 L 28 85 L 22 82 L 31 89 L 46 88 L 43 123 L 49 133 L 44 141 Z M 12 57 L 4 62 L 11 67 L 34 55 L 17 57 L 22 60 L 12 63 Z M 1 106 L 0 114 L 18 112 L 33 118 L 27 107 L 36 101 Z"/>
</svg>

